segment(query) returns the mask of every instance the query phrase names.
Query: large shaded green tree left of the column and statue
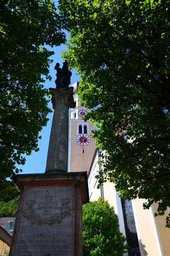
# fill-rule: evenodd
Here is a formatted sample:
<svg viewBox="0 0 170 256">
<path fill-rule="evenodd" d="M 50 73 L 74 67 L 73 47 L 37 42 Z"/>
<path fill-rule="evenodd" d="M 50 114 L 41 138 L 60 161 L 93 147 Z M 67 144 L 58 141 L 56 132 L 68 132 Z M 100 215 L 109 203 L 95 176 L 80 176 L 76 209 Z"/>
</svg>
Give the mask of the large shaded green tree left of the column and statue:
<svg viewBox="0 0 170 256">
<path fill-rule="evenodd" d="M 14 183 L 22 154 L 38 151 L 47 124 L 48 91 L 43 88 L 53 51 L 65 42 L 62 21 L 51 0 L 0 1 L 0 195 Z"/>
</svg>

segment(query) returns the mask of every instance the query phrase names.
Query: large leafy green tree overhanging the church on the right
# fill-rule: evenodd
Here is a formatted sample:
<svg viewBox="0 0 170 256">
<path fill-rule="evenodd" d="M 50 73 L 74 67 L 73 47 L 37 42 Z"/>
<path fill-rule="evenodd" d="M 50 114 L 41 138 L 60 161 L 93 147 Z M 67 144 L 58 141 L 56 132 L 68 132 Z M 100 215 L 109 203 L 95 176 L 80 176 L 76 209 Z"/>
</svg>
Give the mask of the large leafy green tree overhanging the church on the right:
<svg viewBox="0 0 170 256">
<path fill-rule="evenodd" d="M 71 35 L 64 57 L 81 76 L 79 96 L 107 154 L 99 182 L 114 182 L 125 200 L 147 199 L 144 208 L 158 202 L 163 215 L 170 205 L 170 1 L 59 3 Z"/>
</svg>

